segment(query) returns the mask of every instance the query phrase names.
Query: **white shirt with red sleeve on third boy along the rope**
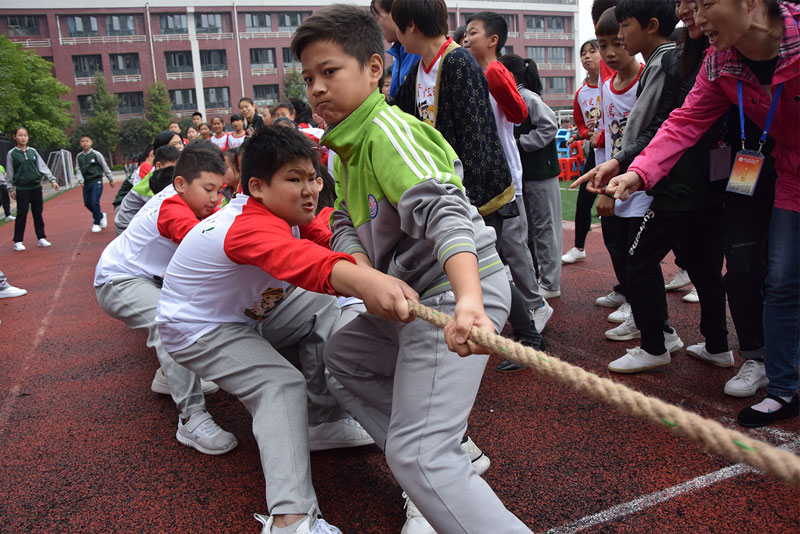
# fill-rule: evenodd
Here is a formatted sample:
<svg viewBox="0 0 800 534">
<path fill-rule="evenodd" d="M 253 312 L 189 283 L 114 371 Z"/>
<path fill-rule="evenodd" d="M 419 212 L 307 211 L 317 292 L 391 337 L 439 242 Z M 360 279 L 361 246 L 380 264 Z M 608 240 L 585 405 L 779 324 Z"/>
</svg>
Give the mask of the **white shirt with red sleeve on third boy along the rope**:
<svg viewBox="0 0 800 534">
<path fill-rule="evenodd" d="M 175 188 L 165 187 L 105 248 L 94 271 L 95 287 L 116 278 L 162 278 L 178 243 L 197 223 Z"/>
</svg>

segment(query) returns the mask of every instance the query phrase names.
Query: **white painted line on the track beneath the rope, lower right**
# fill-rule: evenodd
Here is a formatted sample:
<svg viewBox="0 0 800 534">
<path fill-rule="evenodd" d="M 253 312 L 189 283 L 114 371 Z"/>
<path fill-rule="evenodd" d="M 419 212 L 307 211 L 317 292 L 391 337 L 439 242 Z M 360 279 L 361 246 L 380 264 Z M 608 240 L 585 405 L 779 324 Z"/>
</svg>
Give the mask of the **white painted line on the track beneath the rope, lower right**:
<svg viewBox="0 0 800 534">
<path fill-rule="evenodd" d="M 800 453 L 800 436 L 797 434 L 769 427 L 763 427 L 757 431 L 766 432 L 770 436 L 780 440 L 786 440 L 787 442 L 778 447 L 779 449 L 789 451 L 793 454 Z M 641 512 L 686 493 L 691 493 L 699 489 L 713 486 L 714 484 L 737 477 L 739 475 L 743 475 L 745 473 L 754 472 L 757 473 L 758 471 L 746 464 L 741 463 L 723 467 L 722 469 L 701 475 L 687 482 L 683 482 L 682 484 L 656 491 L 650 493 L 649 495 L 643 495 L 642 497 L 632 501 L 612 506 L 611 508 L 603 510 L 602 512 L 587 515 L 586 517 L 582 517 L 577 521 L 573 521 L 560 527 L 552 528 L 546 531 L 546 534 L 570 534 L 573 532 L 578 532 L 585 528 L 589 528 L 601 523 L 607 523 L 621 517 Z"/>
</svg>

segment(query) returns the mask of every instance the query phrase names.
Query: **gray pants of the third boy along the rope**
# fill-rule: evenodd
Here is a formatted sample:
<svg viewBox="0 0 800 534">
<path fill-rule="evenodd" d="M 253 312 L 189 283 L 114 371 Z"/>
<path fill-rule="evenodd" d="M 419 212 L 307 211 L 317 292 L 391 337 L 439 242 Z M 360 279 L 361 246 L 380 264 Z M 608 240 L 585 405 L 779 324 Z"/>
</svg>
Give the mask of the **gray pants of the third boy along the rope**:
<svg viewBox="0 0 800 534">
<path fill-rule="evenodd" d="M 158 363 L 169 383 L 175 406 L 186 418 L 206 409 L 200 378 L 178 364 L 161 345 L 156 328 L 156 309 L 161 288 L 144 278 L 117 278 L 95 288 L 97 302 L 104 312 L 119 319 L 129 328 L 147 331 L 147 346 L 155 349 Z"/>
</svg>

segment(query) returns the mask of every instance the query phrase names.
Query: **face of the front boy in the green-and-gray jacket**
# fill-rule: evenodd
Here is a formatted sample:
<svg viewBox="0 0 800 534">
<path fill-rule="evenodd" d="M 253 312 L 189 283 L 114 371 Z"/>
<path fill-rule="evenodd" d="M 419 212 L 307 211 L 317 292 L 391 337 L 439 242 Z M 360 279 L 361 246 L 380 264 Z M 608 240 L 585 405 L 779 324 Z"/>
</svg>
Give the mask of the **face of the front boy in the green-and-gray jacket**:
<svg viewBox="0 0 800 534">
<path fill-rule="evenodd" d="M 383 75 L 378 54 L 362 65 L 331 41 L 314 41 L 300 55 L 308 102 L 328 126 L 339 124 L 360 106 Z"/>
</svg>

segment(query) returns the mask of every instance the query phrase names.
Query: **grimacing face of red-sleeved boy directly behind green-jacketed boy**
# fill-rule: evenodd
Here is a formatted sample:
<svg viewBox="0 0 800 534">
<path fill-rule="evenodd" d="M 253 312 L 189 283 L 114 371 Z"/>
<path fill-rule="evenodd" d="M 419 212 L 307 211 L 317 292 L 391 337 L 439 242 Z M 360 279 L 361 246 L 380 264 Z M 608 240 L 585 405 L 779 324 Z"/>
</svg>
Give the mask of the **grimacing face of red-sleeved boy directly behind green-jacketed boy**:
<svg viewBox="0 0 800 534">
<path fill-rule="evenodd" d="M 248 186 L 250 196 L 273 214 L 292 226 L 304 225 L 314 220 L 322 178 L 310 159 L 299 158 L 282 165 L 269 184 L 250 178 Z"/>
</svg>

